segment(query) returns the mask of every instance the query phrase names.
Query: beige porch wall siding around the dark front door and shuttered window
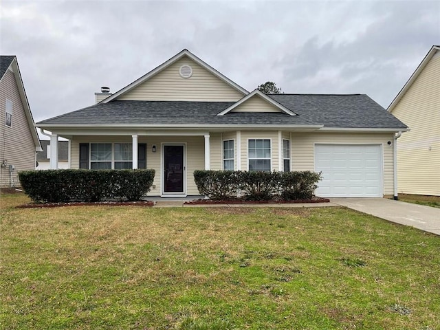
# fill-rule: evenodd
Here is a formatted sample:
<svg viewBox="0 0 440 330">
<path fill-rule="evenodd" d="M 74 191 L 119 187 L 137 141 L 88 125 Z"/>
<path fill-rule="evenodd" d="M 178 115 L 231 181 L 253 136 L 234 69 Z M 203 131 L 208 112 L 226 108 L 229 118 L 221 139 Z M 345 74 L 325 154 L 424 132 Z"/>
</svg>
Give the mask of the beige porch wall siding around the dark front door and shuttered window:
<svg viewBox="0 0 440 330">
<path fill-rule="evenodd" d="M 79 168 L 79 144 L 90 142 L 128 142 L 131 143 L 131 136 L 78 136 L 72 139 L 72 168 Z M 187 195 L 199 195 L 194 182 L 194 171 L 205 168 L 205 140 L 203 136 L 139 136 L 138 143 L 146 143 L 146 167 L 153 168 L 155 178 L 153 188 L 148 196 L 161 194 L 162 181 L 162 145 L 185 144 L 186 155 L 186 193 Z M 156 152 L 153 153 L 153 144 Z"/>
</svg>

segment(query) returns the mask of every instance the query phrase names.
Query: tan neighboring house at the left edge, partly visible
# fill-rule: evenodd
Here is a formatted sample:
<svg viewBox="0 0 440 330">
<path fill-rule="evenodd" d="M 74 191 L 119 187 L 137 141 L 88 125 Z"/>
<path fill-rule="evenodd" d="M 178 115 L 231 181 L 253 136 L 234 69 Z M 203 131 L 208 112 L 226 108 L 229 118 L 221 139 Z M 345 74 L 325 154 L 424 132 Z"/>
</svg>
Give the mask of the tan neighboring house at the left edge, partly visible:
<svg viewBox="0 0 440 330">
<path fill-rule="evenodd" d="M 16 56 L 0 56 L 0 188 L 19 186 L 41 151 Z"/>
</svg>

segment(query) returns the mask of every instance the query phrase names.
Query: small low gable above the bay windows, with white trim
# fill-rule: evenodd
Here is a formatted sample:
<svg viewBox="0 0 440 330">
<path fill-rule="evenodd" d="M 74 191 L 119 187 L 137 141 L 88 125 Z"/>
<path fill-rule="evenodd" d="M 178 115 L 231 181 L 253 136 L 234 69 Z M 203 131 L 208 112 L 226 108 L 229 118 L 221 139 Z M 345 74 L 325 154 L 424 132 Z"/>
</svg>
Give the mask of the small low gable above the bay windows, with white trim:
<svg viewBox="0 0 440 330">
<path fill-rule="evenodd" d="M 225 115 L 230 112 L 281 112 L 287 113 L 288 115 L 296 115 L 296 113 L 287 109 L 258 89 L 255 89 L 252 93 L 232 104 L 228 109 L 221 111 L 218 115 Z"/>
</svg>

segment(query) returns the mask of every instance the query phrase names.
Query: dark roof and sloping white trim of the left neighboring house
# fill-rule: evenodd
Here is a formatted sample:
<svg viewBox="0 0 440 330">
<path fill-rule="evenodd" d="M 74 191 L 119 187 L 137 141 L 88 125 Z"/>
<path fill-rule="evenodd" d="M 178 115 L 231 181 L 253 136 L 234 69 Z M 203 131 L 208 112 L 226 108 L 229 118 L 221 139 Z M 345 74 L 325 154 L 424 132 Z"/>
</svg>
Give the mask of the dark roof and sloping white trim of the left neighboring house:
<svg viewBox="0 0 440 330">
<path fill-rule="evenodd" d="M 8 69 L 11 69 L 11 71 L 14 73 L 14 78 L 17 83 L 17 89 L 19 91 L 21 103 L 23 104 L 26 120 L 28 121 L 30 133 L 32 135 L 32 140 L 34 141 L 36 151 L 41 151 L 39 135 L 38 133 L 36 133 L 34 118 L 32 117 L 32 112 L 30 111 L 30 105 L 28 102 L 28 96 L 26 96 L 23 80 L 21 79 L 21 73 L 19 69 L 19 63 L 17 62 L 17 56 L 0 56 L 0 62 L 1 62 L 0 80 L 1 78 L 3 78 L 3 76 L 5 76 L 5 73 L 8 71 Z"/>
</svg>

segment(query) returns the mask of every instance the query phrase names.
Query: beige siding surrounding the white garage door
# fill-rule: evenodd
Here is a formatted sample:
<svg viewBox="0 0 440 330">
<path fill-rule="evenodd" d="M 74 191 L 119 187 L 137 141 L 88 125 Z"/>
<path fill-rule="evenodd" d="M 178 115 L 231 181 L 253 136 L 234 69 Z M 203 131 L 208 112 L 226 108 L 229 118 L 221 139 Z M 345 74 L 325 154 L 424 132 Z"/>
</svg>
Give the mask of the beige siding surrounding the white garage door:
<svg viewBox="0 0 440 330">
<path fill-rule="evenodd" d="M 292 170 L 314 170 L 314 144 L 382 144 L 384 195 L 393 195 L 392 133 L 292 133 Z"/>
</svg>

